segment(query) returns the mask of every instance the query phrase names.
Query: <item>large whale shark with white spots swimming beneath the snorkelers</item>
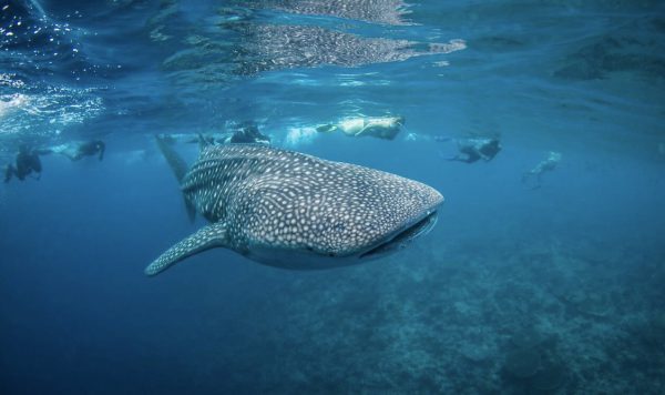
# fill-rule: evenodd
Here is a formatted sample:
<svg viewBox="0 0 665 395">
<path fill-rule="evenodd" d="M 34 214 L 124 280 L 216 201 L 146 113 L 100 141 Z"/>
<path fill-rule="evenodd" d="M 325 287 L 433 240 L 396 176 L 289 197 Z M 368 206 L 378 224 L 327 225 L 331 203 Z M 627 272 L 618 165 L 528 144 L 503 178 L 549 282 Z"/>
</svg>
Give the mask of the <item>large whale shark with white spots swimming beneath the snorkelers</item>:
<svg viewBox="0 0 665 395">
<path fill-rule="evenodd" d="M 443 196 L 396 174 L 266 144 L 204 145 L 187 170 L 157 136 L 191 219 L 208 224 L 154 260 L 155 275 L 203 251 L 314 270 L 386 256 L 427 234 Z"/>
</svg>

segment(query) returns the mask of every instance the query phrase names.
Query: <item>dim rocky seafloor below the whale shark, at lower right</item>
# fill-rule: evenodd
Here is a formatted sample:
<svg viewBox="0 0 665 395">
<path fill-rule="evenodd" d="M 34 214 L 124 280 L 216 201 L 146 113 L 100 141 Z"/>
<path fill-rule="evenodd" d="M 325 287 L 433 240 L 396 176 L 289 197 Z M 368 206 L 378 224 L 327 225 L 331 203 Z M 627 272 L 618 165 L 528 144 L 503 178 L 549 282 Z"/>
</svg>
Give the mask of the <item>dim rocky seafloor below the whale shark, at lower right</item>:
<svg viewBox="0 0 665 395">
<path fill-rule="evenodd" d="M 662 254 L 590 240 L 437 243 L 287 276 L 248 313 L 249 341 L 200 374 L 233 365 L 224 389 L 263 393 L 665 392 Z"/>
</svg>

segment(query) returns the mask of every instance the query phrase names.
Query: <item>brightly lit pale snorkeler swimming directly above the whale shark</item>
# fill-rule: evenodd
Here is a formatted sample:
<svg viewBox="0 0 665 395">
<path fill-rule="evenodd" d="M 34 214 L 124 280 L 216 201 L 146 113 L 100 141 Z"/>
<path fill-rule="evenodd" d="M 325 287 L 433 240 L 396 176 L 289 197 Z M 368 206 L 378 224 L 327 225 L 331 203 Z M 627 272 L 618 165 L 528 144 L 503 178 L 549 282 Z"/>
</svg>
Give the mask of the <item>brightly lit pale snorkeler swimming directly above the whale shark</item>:
<svg viewBox="0 0 665 395">
<path fill-rule="evenodd" d="M 344 134 L 354 138 L 369 135 L 383 140 L 393 140 L 403 124 L 403 117 L 359 117 L 345 119 L 337 124 L 320 125 L 316 128 L 316 131 L 319 133 L 332 133 L 340 131 Z"/>
</svg>

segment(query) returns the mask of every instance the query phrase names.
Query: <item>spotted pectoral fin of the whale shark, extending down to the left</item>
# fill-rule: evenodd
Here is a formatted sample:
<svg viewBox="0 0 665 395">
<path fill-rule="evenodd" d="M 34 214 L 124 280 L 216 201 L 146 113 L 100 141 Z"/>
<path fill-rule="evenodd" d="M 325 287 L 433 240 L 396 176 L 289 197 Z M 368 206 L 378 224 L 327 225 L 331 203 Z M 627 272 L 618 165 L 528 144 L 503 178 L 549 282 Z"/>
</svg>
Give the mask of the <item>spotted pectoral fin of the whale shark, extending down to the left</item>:
<svg viewBox="0 0 665 395">
<path fill-rule="evenodd" d="M 145 267 L 145 274 L 158 274 L 188 256 L 209 249 L 224 247 L 227 245 L 226 224 L 213 223 L 206 225 L 166 250 L 166 252 Z"/>
</svg>

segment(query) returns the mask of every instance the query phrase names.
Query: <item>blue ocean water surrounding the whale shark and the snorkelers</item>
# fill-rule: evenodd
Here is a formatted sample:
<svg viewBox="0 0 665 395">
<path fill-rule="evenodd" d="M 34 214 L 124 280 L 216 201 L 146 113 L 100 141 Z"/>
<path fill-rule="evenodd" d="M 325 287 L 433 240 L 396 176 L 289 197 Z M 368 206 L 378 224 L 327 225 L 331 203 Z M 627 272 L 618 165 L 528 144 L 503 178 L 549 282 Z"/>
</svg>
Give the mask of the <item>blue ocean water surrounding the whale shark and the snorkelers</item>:
<svg viewBox="0 0 665 395">
<path fill-rule="evenodd" d="M 0 185 L 0 391 L 664 393 L 664 47 L 659 1 L 0 1 L 1 164 L 106 144 Z M 205 223 L 154 135 L 191 163 L 243 121 L 436 188 L 437 226 L 356 266 L 146 277 Z M 501 152 L 446 160 L 478 136 Z"/>
</svg>

